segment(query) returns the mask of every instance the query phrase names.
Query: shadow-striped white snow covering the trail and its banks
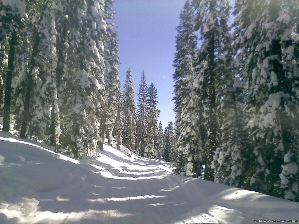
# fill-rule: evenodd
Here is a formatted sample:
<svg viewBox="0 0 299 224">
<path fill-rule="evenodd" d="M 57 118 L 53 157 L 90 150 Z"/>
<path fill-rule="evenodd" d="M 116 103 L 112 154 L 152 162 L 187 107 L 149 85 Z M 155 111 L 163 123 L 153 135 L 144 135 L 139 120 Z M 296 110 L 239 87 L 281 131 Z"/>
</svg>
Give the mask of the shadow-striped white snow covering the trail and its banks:
<svg viewBox="0 0 299 224">
<path fill-rule="evenodd" d="M 171 172 L 108 145 L 78 161 L 0 131 L 0 223 L 298 220 L 299 203 Z"/>
</svg>

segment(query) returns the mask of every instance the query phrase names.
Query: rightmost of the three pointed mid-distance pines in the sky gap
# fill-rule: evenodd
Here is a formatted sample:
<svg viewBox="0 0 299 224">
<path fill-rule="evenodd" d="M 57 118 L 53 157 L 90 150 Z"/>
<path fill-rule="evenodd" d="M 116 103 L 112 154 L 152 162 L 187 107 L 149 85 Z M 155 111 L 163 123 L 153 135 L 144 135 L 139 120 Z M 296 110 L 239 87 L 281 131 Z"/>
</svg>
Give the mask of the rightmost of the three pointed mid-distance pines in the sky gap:
<svg viewBox="0 0 299 224">
<path fill-rule="evenodd" d="M 157 89 L 154 84 L 149 86 L 149 116 L 147 133 L 147 158 L 158 158 L 158 117 L 160 110 L 157 108 Z"/>
</svg>

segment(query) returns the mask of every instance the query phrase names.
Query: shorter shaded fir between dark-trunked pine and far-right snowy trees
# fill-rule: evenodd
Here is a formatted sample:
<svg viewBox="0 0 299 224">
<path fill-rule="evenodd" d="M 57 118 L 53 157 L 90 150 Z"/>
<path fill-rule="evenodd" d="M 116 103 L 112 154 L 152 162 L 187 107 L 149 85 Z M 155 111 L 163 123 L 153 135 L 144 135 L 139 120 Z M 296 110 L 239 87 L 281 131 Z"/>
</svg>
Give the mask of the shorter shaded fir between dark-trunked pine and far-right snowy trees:
<svg viewBox="0 0 299 224">
<path fill-rule="evenodd" d="M 249 148 L 248 134 L 245 129 L 245 115 L 242 111 L 244 97 L 239 80 L 238 70 L 233 60 L 231 35 L 225 37 L 219 54 L 223 55 L 217 72 L 219 80 L 219 116 L 222 119 L 220 128 L 220 145 L 216 149 L 212 168 L 215 169 L 215 181 L 241 186 L 243 159 L 245 150 Z"/>
</svg>

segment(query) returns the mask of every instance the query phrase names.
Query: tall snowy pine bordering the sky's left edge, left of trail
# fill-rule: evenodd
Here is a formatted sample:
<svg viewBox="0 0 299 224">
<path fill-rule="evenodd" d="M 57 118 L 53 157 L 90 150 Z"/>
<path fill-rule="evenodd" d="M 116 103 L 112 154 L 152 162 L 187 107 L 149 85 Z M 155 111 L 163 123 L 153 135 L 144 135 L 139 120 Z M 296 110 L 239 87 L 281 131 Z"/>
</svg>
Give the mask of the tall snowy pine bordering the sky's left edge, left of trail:
<svg viewBox="0 0 299 224">
<path fill-rule="evenodd" d="M 111 0 L 105 2 L 105 19 L 113 19 Z M 120 80 L 118 78 L 118 67 L 119 57 L 118 57 L 118 40 L 117 32 L 115 30 L 115 24 L 112 22 L 107 22 L 106 35 L 104 40 L 105 46 L 105 107 L 103 108 L 103 131 L 108 139 L 108 144 L 111 145 L 113 139 L 113 127 L 116 121 L 118 106 L 120 105 Z"/>
</svg>

